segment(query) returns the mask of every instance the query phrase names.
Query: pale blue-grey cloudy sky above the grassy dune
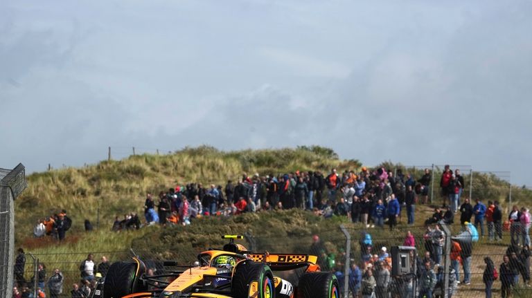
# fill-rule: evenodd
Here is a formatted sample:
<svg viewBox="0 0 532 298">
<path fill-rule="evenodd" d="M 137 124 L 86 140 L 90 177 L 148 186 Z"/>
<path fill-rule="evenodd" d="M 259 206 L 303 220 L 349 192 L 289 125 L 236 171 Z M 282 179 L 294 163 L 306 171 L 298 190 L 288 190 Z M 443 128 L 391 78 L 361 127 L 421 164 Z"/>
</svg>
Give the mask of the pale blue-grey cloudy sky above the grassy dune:
<svg viewBox="0 0 532 298">
<path fill-rule="evenodd" d="M 532 185 L 531 1 L 0 1 L 0 167 L 323 145 Z"/>
</svg>

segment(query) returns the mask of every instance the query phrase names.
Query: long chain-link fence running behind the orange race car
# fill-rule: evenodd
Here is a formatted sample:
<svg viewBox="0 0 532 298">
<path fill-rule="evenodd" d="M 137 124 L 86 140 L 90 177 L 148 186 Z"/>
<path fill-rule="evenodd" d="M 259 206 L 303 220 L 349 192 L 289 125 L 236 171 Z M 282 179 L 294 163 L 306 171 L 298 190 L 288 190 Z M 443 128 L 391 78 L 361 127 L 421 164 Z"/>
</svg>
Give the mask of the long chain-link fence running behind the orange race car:
<svg viewBox="0 0 532 298">
<path fill-rule="evenodd" d="M 506 225 L 490 225 L 489 229 L 485 227 L 486 231 L 493 229 L 493 233 L 489 232 L 484 236 L 481 236 L 480 227 L 459 224 L 442 225 L 441 228 L 436 228 L 434 223 L 427 226 L 402 225 L 394 230 L 389 230 L 387 226 L 363 228 L 360 224 L 351 223 L 342 226 L 345 233 L 338 227 L 317 235 L 305 234 L 290 238 L 246 234 L 240 243 L 249 250 L 260 253 L 267 251 L 317 255 L 321 270 L 335 274 L 341 292 L 348 292 L 346 297 L 362 297 L 368 291 L 375 292 L 375 297 L 418 297 L 427 287 L 433 291 L 433 297 L 443 297 L 442 285 L 445 284 L 446 290 L 452 292 L 452 297 L 484 297 L 486 278 L 493 278 L 491 275 L 486 277 L 486 257 L 490 257 L 498 271 L 499 277 L 493 281 L 493 292 L 498 296 L 502 280 L 506 281 L 508 278 L 508 272 L 501 268 L 503 257 L 508 255 L 511 258 L 507 267 L 512 274 L 509 278 L 517 280 L 512 287 L 514 297 L 532 297 L 532 288 L 529 288 L 530 254 L 522 248 L 524 242 L 521 240 L 517 242 L 520 246 L 510 245 L 512 235 Z M 464 233 L 466 230 L 468 232 Z M 456 250 L 456 243 L 461 252 Z M 411 246 L 415 250 L 411 250 Z M 209 247 L 196 249 L 208 250 Z M 176 259 L 178 255 L 182 259 L 182 254 L 186 254 L 186 259 L 190 260 L 183 264 L 186 266 L 193 266 L 194 261 L 197 261 L 192 250 L 87 250 L 76 254 L 35 254 L 33 257 L 48 272 L 44 282 L 51 277 L 55 268 L 61 270 L 64 275 L 62 297 L 69 297 L 73 283 L 80 283 L 80 265 L 89 253 L 94 254 L 96 270 L 103 257 L 112 263 L 127 261 L 136 256 L 143 259 L 156 274 L 164 272 L 162 261 Z M 26 264 L 25 277 L 28 281 L 33 281 L 35 267 L 35 262 Z M 401 271 L 402 267 L 407 270 Z M 434 275 L 427 269 L 432 270 Z M 275 273 L 294 286 L 297 286 L 299 277 L 303 274 L 297 270 L 289 272 L 290 274 Z"/>
</svg>

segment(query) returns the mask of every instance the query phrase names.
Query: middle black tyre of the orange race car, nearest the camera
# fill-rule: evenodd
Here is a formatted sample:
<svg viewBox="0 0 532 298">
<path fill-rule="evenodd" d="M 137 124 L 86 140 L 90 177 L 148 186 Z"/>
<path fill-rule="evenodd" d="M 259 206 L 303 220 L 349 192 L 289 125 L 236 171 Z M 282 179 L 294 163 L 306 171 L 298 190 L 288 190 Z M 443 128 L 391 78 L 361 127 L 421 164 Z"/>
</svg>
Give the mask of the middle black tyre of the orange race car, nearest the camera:
<svg viewBox="0 0 532 298">
<path fill-rule="evenodd" d="M 256 298 L 275 298 L 274 274 L 265 263 L 251 260 L 238 263 L 231 281 L 231 292 L 235 298 L 249 298 L 250 288 L 257 286 Z"/>
</svg>

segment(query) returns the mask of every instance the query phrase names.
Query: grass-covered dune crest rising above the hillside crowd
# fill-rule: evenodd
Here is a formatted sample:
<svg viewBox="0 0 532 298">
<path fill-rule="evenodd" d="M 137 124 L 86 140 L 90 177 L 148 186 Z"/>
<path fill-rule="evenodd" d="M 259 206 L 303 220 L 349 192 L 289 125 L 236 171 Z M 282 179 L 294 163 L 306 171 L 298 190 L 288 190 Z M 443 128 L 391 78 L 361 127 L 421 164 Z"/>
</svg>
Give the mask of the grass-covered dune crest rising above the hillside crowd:
<svg viewBox="0 0 532 298">
<path fill-rule="evenodd" d="M 114 216 L 142 212 L 146 192 L 190 182 L 224 185 L 242 173 L 284 174 L 296 170 L 331 167 L 358 169 L 357 160 L 340 160 L 331 149 L 297 147 L 219 151 L 213 147 L 186 148 L 167 155 L 143 154 L 123 160 L 106 160 L 97 165 L 64 168 L 28 176 L 28 189 L 15 202 L 18 243 L 31 236 L 37 218 L 67 209 L 72 230 L 83 229 L 83 221 L 109 229 Z M 98 216 L 99 214 L 99 216 Z"/>
</svg>

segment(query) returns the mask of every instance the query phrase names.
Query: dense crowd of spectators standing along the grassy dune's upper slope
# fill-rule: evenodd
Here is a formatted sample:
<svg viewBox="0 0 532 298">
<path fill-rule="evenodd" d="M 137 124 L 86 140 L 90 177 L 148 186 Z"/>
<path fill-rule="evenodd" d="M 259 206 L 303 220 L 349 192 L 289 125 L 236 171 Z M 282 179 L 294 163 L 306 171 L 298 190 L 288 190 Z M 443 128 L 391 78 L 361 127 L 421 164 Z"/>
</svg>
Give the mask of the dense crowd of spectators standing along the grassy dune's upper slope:
<svg viewBox="0 0 532 298">
<path fill-rule="evenodd" d="M 370 171 L 366 167 L 358 173 L 342 174 L 332 169 L 327 176 L 320 171 L 295 171 L 279 176 L 243 174 L 236 184 L 228 180 L 225 187 L 178 185 L 159 192 L 157 202 L 148 193 L 144 215 L 147 224 L 188 225 L 199 216 L 299 208 L 325 217 L 348 216 L 354 223 L 362 222 L 367 227 L 370 224 L 382 227 L 386 221 L 393 228 L 402 209 L 406 210 L 407 223 L 414 224 L 415 205 L 418 200 L 427 203 L 430 182 L 429 169 L 419 180 L 400 170 L 394 176 L 384 168 Z"/>
</svg>

